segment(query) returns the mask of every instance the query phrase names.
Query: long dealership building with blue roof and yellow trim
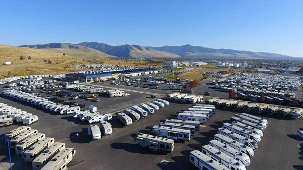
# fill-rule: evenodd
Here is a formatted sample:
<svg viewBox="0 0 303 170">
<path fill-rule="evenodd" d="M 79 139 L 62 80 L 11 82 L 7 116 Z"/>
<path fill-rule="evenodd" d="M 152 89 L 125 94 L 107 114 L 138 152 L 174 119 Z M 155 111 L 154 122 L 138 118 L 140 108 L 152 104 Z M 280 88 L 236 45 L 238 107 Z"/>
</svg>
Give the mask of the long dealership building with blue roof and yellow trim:
<svg viewBox="0 0 303 170">
<path fill-rule="evenodd" d="M 148 74 L 157 74 L 156 69 L 131 69 L 131 70 L 110 70 L 110 71 L 83 71 L 66 74 L 69 81 L 80 80 L 82 83 L 105 81 L 112 77 L 121 76 L 140 76 Z"/>
</svg>

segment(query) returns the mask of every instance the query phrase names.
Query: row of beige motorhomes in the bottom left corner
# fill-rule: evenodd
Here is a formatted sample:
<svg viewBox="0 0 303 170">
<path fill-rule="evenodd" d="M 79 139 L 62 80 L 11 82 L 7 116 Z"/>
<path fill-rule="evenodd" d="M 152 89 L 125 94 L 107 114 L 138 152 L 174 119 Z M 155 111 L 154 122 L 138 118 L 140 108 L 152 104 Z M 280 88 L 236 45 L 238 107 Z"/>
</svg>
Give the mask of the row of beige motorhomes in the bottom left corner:
<svg viewBox="0 0 303 170">
<path fill-rule="evenodd" d="M 5 135 L 5 143 L 21 155 L 26 163 L 32 163 L 33 170 L 66 169 L 76 154 L 74 148 L 27 126 L 18 127 Z"/>
</svg>

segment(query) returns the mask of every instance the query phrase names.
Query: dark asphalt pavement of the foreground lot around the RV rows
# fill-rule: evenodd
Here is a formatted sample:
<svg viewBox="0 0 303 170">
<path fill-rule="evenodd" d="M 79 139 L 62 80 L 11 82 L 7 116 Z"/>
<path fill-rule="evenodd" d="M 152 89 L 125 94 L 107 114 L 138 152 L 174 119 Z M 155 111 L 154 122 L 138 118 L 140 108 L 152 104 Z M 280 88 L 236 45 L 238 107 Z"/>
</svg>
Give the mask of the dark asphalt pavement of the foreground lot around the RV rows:
<svg viewBox="0 0 303 170">
<path fill-rule="evenodd" d="M 75 148 L 77 153 L 68 165 L 71 170 L 138 169 L 138 167 L 142 169 L 194 169 L 188 160 L 189 152 L 195 149 L 200 150 L 203 145 L 208 144 L 213 139 L 214 134 L 217 133 L 217 128 L 221 128 L 225 122 L 230 122 L 230 117 L 236 114 L 234 111 L 217 109 L 217 114 L 206 125 L 200 127 L 200 133 L 196 133 L 193 139 L 185 143 L 176 141 L 174 151 L 164 154 L 140 147 L 135 144 L 133 137 L 139 132 L 150 133 L 150 128 L 159 124 L 161 120 L 176 117 L 177 111 L 187 109 L 192 104 L 171 102 L 169 106 L 160 109 L 153 116 L 134 122 L 130 127 L 123 127 L 114 118 L 111 121 L 113 134 L 103 136 L 97 141 L 90 141 L 84 131 L 84 128 L 88 125 L 69 118 L 70 115 L 50 115 L 23 105 L 23 103 L 14 103 L 3 98 L 0 98 L 0 102 L 20 107 L 20 109 L 38 115 L 39 121 L 30 125 L 32 129 L 45 133 L 47 137 L 55 138 L 56 142 L 65 142 L 67 146 Z M 123 103 L 121 104 L 123 105 Z M 279 118 L 266 119 L 269 121 L 268 128 L 265 130 L 259 148 L 247 169 L 302 169 L 302 148 L 300 150 L 298 146 L 302 141 L 298 139 L 296 131 L 302 128 L 303 121 L 280 120 Z M 4 141 L 5 133 L 16 127 L 14 125 L 1 128 L 0 141 Z M 48 127 L 52 128 L 49 129 Z M 79 134 L 79 136 L 77 137 L 76 134 Z M 0 169 L 8 169 L 9 157 L 5 145 L 0 145 L 0 160 Z M 31 164 L 23 163 L 22 158 L 16 156 L 14 152 L 12 152 L 12 161 L 14 162 L 13 169 L 31 169 Z"/>
</svg>

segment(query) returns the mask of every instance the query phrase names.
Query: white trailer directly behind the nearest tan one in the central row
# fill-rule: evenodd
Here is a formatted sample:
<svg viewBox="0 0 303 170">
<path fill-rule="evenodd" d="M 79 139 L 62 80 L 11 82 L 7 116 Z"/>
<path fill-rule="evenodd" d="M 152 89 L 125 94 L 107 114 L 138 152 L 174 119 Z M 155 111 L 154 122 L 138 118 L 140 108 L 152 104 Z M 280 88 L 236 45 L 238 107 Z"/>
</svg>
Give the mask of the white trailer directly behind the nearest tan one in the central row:
<svg viewBox="0 0 303 170">
<path fill-rule="evenodd" d="M 183 141 L 190 140 L 190 131 L 185 129 L 164 127 L 164 126 L 154 126 L 152 131 L 154 134 L 160 137 L 165 137 L 174 140 L 183 140 Z"/>
</svg>

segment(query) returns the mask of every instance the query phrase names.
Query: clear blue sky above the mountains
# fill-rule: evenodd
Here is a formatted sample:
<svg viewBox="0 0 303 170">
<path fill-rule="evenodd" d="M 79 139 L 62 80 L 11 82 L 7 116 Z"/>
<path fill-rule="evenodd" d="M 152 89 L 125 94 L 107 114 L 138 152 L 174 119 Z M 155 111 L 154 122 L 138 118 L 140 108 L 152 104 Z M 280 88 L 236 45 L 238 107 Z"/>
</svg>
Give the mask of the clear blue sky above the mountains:
<svg viewBox="0 0 303 170">
<path fill-rule="evenodd" d="M 0 1 L 0 44 L 82 41 L 303 57 L 303 1 Z"/>
</svg>

